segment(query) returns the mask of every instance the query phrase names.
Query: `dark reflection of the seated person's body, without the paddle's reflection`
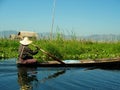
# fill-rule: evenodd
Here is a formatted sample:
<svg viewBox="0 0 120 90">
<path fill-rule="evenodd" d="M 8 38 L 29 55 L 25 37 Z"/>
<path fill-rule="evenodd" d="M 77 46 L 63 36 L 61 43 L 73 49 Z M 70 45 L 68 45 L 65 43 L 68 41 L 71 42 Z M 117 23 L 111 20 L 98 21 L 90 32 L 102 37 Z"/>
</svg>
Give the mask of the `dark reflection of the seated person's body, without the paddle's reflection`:
<svg viewBox="0 0 120 90">
<path fill-rule="evenodd" d="M 20 90 L 32 90 L 33 82 L 38 82 L 36 74 L 36 68 L 19 67 L 18 83 L 20 85 Z"/>
</svg>

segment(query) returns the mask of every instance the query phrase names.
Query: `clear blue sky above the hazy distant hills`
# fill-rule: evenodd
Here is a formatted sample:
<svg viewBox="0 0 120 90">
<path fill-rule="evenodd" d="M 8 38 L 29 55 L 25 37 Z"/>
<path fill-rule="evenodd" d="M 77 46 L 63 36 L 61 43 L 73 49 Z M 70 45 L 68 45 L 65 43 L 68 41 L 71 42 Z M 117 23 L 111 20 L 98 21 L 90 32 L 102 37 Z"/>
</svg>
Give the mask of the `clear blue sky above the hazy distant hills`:
<svg viewBox="0 0 120 90">
<path fill-rule="evenodd" d="M 120 0 L 0 0 L 3 30 L 120 34 Z"/>
</svg>

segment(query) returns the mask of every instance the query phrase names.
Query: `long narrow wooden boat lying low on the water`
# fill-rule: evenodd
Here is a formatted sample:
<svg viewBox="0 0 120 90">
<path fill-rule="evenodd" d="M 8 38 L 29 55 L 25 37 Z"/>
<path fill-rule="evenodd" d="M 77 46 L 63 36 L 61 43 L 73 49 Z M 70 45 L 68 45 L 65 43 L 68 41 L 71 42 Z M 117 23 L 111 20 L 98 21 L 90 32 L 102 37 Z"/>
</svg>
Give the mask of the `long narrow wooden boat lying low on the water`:
<svg viewBox="0 0 120 90">
<path fill-rule="evenodd" d="M 17 66 L 26 67 L 108 67 L 120 68 L 120 58 L 99 59 L 99 60 L 63 60 L 65 64 L 58 61 L 47 61 L 43 63 L 22 64 L 17 62 Z"/>
</svg>

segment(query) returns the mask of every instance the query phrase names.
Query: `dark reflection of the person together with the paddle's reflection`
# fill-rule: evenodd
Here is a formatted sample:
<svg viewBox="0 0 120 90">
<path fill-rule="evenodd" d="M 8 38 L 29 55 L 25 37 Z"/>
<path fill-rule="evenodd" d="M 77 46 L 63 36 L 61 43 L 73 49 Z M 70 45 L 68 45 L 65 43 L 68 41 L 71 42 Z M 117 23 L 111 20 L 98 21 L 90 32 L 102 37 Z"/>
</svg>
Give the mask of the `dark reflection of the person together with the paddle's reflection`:
<svg viewBox="0 0 120 90">
<path fill-rule="evenodd" d="M 64 73 L 65 70 L 59 70 L 52 75 L 48 75 L 47 77 L 38 80 L 37 68 L 18 67 L 18 83 L 20 90 L 33 90 L 34 85 L 37 87 L 41 82 L 43 83 L 49 79 L 56 78 Z"/>
</svg>

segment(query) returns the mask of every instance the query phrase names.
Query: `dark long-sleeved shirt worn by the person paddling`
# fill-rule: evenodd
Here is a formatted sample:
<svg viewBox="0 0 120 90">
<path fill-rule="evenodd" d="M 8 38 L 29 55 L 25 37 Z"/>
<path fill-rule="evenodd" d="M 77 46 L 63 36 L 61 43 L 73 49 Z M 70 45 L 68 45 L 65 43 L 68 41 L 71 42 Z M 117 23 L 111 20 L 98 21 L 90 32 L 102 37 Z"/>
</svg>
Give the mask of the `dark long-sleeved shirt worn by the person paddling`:
<svg viewBox="0 0 120 90">
<path fill-rule="evenodd" d="M 21 45 L 19 48 L 19 58 L 23 60 L 33 59 L 33 55 L 38 53 L 38 48 L 36 50 L 31 50 L 28 45 Z"/>
</svg>

